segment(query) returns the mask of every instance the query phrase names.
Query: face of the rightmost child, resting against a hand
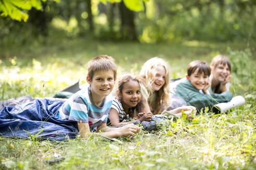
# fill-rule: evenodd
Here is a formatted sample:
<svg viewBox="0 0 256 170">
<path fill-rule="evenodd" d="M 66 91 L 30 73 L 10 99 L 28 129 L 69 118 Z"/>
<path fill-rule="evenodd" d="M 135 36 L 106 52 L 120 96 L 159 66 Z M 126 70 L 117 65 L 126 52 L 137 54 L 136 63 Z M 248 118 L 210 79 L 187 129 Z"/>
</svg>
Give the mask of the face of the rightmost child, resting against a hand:
<svg viewBox="0 0 256 170">
<path fill-rule="evenodd" d="M 212 77 L 214 80 L 224 82 L 227 76 L 230 75 L 230 70 L 227 64 L 219 63 L 215 68 L 212 69 Z"/>
</svg>

